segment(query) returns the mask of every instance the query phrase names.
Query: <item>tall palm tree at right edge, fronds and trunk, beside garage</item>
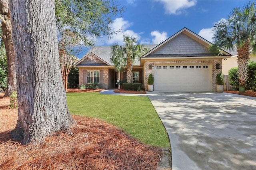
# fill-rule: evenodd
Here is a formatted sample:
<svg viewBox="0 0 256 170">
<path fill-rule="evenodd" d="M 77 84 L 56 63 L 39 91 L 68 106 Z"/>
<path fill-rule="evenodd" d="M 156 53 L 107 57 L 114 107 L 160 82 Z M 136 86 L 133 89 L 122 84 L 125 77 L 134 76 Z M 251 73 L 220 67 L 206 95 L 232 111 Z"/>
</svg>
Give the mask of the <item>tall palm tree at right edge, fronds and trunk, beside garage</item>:
<svg viewBox="0 0 256 170">
<path fill-rule="evenodd" d="M 220 20 L 214 25 L 212 49 L 237 51 L 239 93 L 245 92 L 250 53 L 256 52 L 255 21 L 256 5 L 253 1 L 242 8 L 234 8 L 227 20 Z"/>
</svg>

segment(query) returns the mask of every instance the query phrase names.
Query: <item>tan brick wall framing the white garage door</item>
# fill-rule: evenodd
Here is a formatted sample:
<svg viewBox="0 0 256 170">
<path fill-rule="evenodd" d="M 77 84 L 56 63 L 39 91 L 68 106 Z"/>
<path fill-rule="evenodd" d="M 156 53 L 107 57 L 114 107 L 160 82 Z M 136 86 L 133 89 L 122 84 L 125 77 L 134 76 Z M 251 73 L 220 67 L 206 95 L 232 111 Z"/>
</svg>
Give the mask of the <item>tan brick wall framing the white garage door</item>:
<svg viewBox="0 0 256 170">
<path fill-rule="evenodd" d="M 221 73 L 222 59 L 193 59 L 193 60 L 148 60 L 144 64 L 144 87 L 148 89 L 148 76 L 152 73 L 154 77 L 154 67 L 156 64 L 196 64 L 207 63 L 212 64 L 212 91 L 216 91 L 216 75 Z M 220 63 L 220 69 L 216 69 L 216 64 Z M 152 69 L 148 69 L 149 65 L 152 65 Z"/>
</svg>

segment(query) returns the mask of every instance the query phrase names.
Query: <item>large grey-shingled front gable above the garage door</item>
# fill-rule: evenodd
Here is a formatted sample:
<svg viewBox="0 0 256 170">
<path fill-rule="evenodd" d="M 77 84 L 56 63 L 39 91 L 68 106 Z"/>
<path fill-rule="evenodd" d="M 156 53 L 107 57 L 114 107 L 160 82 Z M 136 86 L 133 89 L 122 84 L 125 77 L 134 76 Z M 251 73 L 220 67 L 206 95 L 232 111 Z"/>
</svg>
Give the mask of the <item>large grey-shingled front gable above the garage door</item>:
<svg viewBox="0 0 256 170">
<path fill-rule="evenodd" d="M 191 52 L 190 50 L 182 49 L 182 47 L 185 47 L 186 45 L 187 45 L 186 47 L 190 47 L 190 49 L 193 47 L 190 44 L 185 44 L 185 41 L 182 42 L 182 40 L 177 40 L 178 38 L 180 38 L 182 36 L 183 36 L 184 40 L 185 39 L 192 40 L 193 43 L 196 44 L 199 49 L 191 50 L 193 52 Z M 157 52 L 157 51 L 160 51 L 161 49 L 163 49 L 165 45 L 170 44 L 172 41 L 174 41 L 174 42 L 176 41 L 176 42 L 180 43 L 180 46 L 178 46 L 176 44 L 176 47 L 174 47 L 174 50 L 171 51 L 171 49 L 169 48 L 169 51 L 164 54 Z M 190 41 L 190 43 L 192 43 L 192 41 Z M 210 44 L 212 44 L 212 43 L 210 43 L 206 39 L 202 38 L 198 34 L 192 32 L 188 28 L 184 27 L 184 28 L 182 28 L 182 30 L 178 31 L 176 34 L 174 34 L 173 36 L 171 36 L 164 42 L 162 42 L 159 45 L 157 45 L 156 47 L 154 47 L 151 51 L 149 51 L 148 53 L 143 55 L 141 57 L 141 59 L 144 59 L 144 58 L 146 59 L 148 57 L 203 57 L 203 56 L 207 57 L 207 56 L 214 56 L 213 53 L 210 53 L 206 49 L 206 47 L 208 47 L 208 45 L 210 45 Z M 164 50 L 162 50 L 162 51 L 164 51 Z M 231 56 L 231 54 L 224 51 L 223 56 Z"/>
</svg>

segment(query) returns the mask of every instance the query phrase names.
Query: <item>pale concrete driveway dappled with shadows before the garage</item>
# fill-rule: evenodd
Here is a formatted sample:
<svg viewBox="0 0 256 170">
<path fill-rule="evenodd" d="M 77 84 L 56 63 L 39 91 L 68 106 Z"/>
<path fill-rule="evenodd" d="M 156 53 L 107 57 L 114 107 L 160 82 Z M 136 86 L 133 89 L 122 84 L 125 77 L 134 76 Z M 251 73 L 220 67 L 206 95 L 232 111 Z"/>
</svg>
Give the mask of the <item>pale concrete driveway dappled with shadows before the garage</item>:
<svg viewBox="0 0 256 170">
<path fill-rule="evenodd" d="M 168 131 L 173 170 L 256 170 L 256 98 L 149 92 Z"/>
</svg>

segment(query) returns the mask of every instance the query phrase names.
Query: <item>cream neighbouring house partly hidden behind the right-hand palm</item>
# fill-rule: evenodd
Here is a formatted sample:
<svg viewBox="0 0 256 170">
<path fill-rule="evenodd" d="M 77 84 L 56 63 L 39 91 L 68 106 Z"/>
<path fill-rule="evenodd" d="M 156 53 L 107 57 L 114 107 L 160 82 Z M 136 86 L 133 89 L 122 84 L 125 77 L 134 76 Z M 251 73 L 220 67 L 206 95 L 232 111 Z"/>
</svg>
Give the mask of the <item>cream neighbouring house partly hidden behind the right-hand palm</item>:
<svg viewBox="0 0 256 170">
<path fill-rule="evenodd" d="M 233 67 L 238 67 L 236 59 L 237 59 L 237 55 L 232 55 L 231 58 L 227 58 L 222 61 L 222 74 L 228 75 L 228 70 L 230 70 Z M 256 55 L 251 55 L 250 60 L 256 62 Z"/>
</svg>

